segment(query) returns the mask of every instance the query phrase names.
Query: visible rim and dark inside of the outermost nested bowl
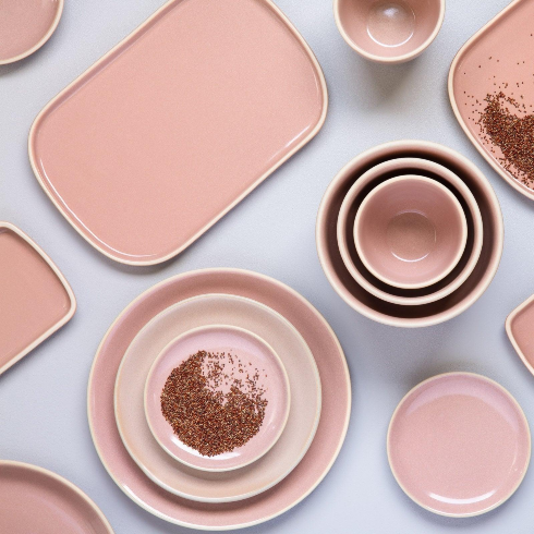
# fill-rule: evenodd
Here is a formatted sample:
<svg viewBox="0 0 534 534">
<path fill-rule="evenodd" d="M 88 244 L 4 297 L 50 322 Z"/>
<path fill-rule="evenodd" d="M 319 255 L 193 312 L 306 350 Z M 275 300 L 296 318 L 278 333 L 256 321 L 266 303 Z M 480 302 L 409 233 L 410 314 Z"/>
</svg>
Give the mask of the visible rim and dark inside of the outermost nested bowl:
<svg viewBox="0 0 534 534">
<path fill-rule="evenodd" d="M 339 209 L 355 180 L 372 167 L 400 157 L 436 161 L 458 174 L 481 209 L 484 242 L 475 269 L 445 299 L 425 305 L 402 306 L 385 302 L 364 290 L 347 269 L 337 243 Z M 338 294 L 363 315 L 399 327 L 422 327 L 451 319 L 471 306 L 489 286 L 502 253 L 503 227 L 499 203 L 482 172 L 457 151 L 424 141 L 397 141 L 371 148 L 347 165 L 328 186 L 317 216 L 317 252 L 323 270 Z"/>
</svg>

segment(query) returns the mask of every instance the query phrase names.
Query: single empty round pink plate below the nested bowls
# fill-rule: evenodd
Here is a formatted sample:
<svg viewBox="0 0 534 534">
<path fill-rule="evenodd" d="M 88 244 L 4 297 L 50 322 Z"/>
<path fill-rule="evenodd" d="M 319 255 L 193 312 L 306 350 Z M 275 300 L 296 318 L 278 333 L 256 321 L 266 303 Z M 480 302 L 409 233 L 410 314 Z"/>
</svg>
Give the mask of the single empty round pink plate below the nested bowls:
<svg viewBox="0 0 534 534">
<path fill-rule="evenodd" d="M 502 386 L 449 373 L 402 399 L 387 448 L 391 471 L 411 499 L 432 512 L 466 518 L 493 510 L 518 489 L 531 458 L 531 434 Z"/>
</svg>

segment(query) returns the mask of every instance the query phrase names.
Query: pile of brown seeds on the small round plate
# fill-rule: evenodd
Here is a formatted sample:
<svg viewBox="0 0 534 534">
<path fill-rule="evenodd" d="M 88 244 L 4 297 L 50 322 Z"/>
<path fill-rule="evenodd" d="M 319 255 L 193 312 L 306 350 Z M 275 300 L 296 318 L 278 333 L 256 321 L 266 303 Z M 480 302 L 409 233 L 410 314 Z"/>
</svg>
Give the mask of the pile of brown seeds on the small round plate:
<svg viewBox="0 0 534 534">
<path fill-rule="evenodd" d="M 246 367 L 234 354 L 198 351 L 172 369 L 161 391 L 161 413 L 183 444 L 214 457 L 259 432 L 266 390 L 259 369 Z"/>
</svg>

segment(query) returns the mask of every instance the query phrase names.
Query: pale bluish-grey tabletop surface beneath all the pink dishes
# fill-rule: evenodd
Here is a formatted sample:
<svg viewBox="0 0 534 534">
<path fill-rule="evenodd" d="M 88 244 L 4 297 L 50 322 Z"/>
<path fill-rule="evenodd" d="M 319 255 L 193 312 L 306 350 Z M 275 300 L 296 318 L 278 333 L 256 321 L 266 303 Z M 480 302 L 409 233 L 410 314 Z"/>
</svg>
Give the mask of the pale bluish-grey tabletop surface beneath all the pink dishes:
<svg viewBox="0 0 534 534">
<path fill-rule="evenodd" d="M 142 291 L 190 269 L 242 267 L 290 284 L 325 315 L 345 350 L 354 393 L 347 441 L 326 480 L 295 509 L 248 532 L 533 532 L 534 470 L 501 508 L 450 520 L 404 496 L 385 451 L 387 425 L 402 396 L 446 371 L 473 371 L 498 380 L 534 421 L 534 378 L 503 327 L 508 313 L 534 291 L 534 205 L 471 146 L 447 96 L 453 56 L 507 0 L 449 0 L 435 43 L 400 66 L 372 64 L 353 52 L 336 28 L 330 0 L 278 0 L 325 71 L 330 93 L 326 124 L 207 234 L 156 268 L 120 266 L 80 238 L 35 180 L 26 138 L 45 104 L 163 0 L 65 3 L 58 31 L 40 51 L 0 66 L 0 219 L 20 226 L 50 254 L 72 284 L 78 310 L 66 327 L 0 377 L 0 458 L 65 476 L 97 502 L 118 534 L 186 532 L 142 510 L 107 475 L 89 436 L 87 378 L 101 337 Z M 365 148 L 403 137 L 444 143 L 470 157 L 494 186 L 506 224 L 502 262 L 482 299 L 460 317 L 418 330 L 378 325 L 345 305 L 323 275 L 314 239 L 320 198 L 337 171 Z"/>
</svg>

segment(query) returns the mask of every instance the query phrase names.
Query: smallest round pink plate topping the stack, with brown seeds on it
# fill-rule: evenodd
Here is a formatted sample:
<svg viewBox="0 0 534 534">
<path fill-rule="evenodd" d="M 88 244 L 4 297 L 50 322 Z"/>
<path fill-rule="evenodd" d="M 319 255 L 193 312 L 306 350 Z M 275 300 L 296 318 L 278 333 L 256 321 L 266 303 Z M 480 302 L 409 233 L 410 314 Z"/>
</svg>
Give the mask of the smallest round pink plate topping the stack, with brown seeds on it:
<svg viewBox="0 0 534 534">
<path fill-rule="evenodd" d="M 145 413 L 159 445 L 203 471 L 231 471 L 277 442 L 290 408 L 289 378 L 275 350 L 230 325 L 193 328 L 151 366 Z"/>
</svg>

